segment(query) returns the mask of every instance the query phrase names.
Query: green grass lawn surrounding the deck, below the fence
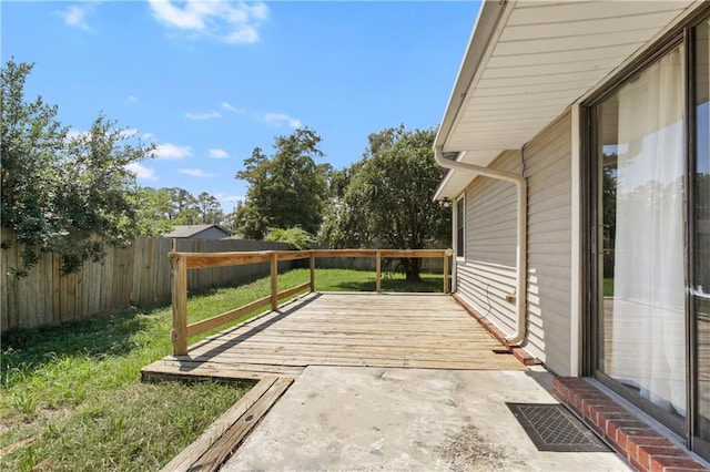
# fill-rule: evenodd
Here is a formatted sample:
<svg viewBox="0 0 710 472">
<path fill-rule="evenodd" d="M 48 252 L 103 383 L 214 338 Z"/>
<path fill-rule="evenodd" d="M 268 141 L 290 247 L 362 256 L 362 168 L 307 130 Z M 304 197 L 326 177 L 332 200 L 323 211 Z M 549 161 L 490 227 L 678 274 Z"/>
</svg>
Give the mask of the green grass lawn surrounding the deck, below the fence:
<svg viewBox="0 0 710 472">
<path fill-rule="evenodd" d="M 291 270 L 278 278 L 280 290 L 307 279 L 307 269 Z M 442 285 L 440 275 L 417 284 L 383 276 L 385 291 L 442 291 Z M 316 289 L 374 291 L 375 274 L 318 269 Z M 190 294 L 189 322 L 268 293 L 264 278 Z M 141 383 L 140 369 L 172 352 L 171 327 L 172 309 L 161 306 L 3 335 L 0 470 L 158 470 L 194 441 L 253 383 Z"/>
</svg>

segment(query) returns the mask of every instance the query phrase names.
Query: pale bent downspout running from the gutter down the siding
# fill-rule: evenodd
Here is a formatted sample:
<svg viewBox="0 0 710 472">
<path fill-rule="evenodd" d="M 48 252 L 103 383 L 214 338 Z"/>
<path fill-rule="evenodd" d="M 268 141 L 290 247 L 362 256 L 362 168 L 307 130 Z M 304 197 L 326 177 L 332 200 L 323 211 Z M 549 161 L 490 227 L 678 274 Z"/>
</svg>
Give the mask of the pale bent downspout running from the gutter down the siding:
<svg viewBox="0 0 710 472">
<path fill-rule="evenodd" d="M 524 176 L 510 172 L 496 171 L 480 165 L 466 164 L 444 157 L 443 146 L 434 146 L 434 158 L 438 165 L 445 168 L 468 172 L 483 177 L 515 184 L 517 198 L 517 250 L 516 250 L 516 311 L 517 322 L 515 332 L 506 337 L 510 346 L 518 346 L 527 336 L 527 234 L 528 234 L 528 183 Z"/>
</svg>

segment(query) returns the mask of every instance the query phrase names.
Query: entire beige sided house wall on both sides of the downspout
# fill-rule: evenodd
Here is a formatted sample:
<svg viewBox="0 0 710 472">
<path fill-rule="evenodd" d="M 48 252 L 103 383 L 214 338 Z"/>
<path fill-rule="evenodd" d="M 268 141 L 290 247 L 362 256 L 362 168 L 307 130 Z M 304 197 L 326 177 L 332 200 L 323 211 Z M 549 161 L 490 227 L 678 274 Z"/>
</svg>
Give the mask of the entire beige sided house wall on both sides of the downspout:
<svg viewBox="0 0 710 472">
<path fill-rule="evenodd" d="M 558 374 L 569 374 L 571 305 L 571 115 L 551 123 L 523 151 L 489 166 L 528 182 L 528 336 L 523 347 Z M 457 295 L 505 334 L 515 330 L 516 189 L 475 178 L 465 191 L 465 258 Z"/>
</svg>

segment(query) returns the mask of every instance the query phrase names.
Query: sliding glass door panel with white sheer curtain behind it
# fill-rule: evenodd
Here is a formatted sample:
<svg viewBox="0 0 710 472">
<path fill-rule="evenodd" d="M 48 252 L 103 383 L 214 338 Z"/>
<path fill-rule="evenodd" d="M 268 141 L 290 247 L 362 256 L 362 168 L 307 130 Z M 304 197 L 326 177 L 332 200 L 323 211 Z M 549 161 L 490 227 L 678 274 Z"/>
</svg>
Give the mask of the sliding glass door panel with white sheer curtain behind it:
<svg viewBox="0 0 710 472">
<path fill-rule="evenodd" d="M 599 371 L 682 430 L 687 409 L 683 47 L 596 106 Z"/>
</svg>

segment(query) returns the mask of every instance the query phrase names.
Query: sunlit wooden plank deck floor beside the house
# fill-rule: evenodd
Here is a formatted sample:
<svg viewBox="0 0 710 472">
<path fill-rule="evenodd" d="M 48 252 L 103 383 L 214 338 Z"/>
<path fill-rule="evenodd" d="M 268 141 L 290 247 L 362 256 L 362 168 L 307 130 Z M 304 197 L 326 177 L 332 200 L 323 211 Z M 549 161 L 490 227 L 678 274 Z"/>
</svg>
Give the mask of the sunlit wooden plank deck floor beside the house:
<svg viewBox="0 0 710 472">
<path fill-rule="evenodd" d="M 448 295 L 343 293 L 308 294 L 141 372 L 262 379 L 307 366 L 525 369 Z"/>
</svg>

